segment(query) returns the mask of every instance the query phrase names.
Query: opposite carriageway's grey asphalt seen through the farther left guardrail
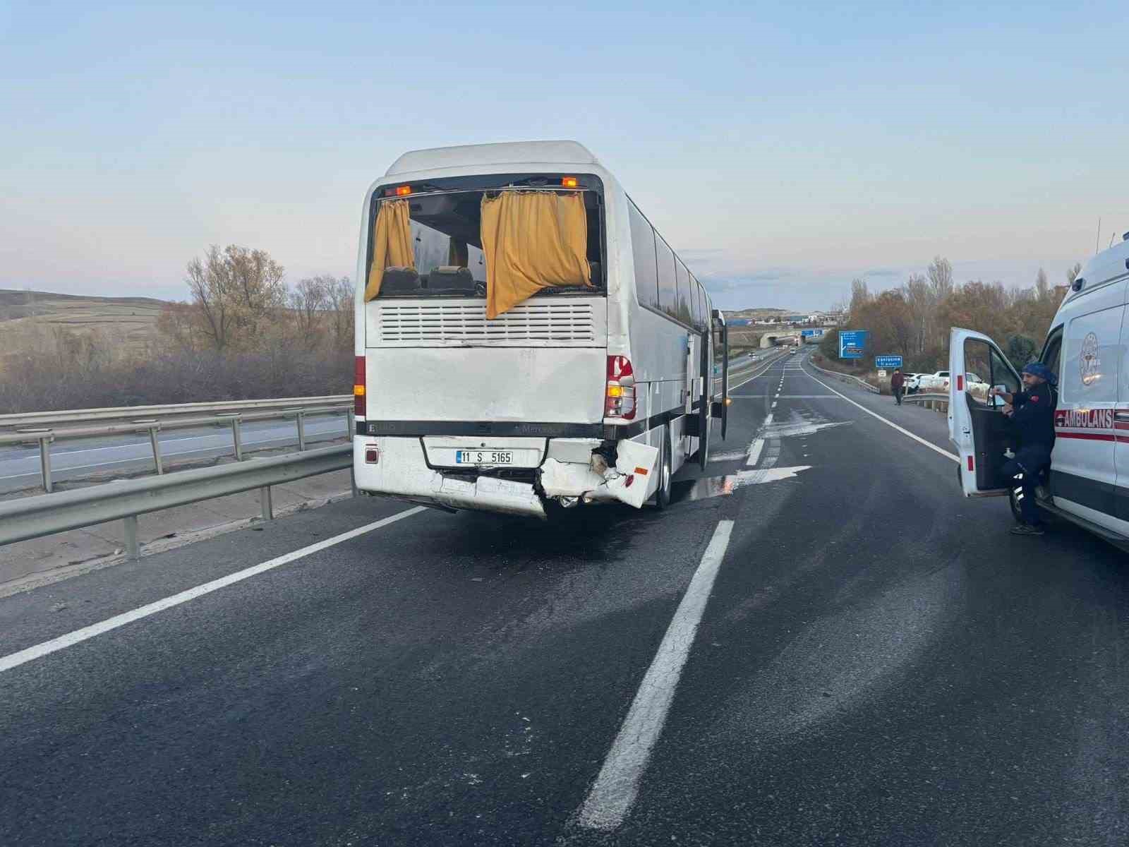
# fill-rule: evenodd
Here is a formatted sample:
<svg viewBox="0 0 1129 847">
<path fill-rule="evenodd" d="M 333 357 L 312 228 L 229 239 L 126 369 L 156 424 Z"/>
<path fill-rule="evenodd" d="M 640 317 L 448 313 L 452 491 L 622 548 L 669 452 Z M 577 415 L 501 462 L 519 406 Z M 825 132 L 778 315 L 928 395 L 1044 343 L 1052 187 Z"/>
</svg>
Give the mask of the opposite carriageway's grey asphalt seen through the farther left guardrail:
<svg viewBox="0 0 1129 847">
<path fill-rule="evenodd" d="M 348 427 L 344 414 L 321 414 L 306 418 L 305 429 L 307 443 L 314 443 L 343 438 Z M 248 452 L 298 444 L 298 429 L 292 420 L 251 421 L 240 426 L 239 434 L 243 448 Z M 172 429 L 158 436 L 166 468 L 176 462 L 229 456 L 235 451 L 229 426 Z M 51 475 L 55 481 L 107 472 L 145 472 L 152 468 L 152 446 L 147 433 L 76 438 L 51 445 Z M 41 480 L 38 445 L 0 446 L 0 492 L 35 488 Z"/>
</svg>

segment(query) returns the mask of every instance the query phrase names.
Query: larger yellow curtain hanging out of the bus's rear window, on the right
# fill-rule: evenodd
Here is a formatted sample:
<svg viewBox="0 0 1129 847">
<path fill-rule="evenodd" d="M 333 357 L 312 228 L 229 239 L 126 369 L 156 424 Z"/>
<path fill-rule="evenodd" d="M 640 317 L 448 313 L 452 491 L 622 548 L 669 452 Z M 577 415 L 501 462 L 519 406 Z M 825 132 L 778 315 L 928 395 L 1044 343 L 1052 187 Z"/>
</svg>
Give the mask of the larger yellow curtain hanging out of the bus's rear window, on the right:
<svg viewBox="0 0 1129 847">
<path fill-rule="evenodd" d="M 579 193 L 502 191 L 483 197 L 482 252 L 488 318 L 549 286 L 592 286 Z"/>
</svg>

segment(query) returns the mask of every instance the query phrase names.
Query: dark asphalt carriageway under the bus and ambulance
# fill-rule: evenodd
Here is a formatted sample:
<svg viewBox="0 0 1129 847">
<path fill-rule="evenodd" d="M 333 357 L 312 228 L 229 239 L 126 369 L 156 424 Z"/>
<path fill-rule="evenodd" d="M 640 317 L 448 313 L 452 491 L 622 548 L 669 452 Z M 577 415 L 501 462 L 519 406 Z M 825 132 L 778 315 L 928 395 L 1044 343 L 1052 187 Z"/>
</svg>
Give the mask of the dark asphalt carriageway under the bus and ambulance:
<svg viewBox="0 0 1129 847">
<path fill-rule="evenodd" d="M 824 382 L 737 388 L 666 514 L 413 512 L 0 671 L 0 844 L 1129 842 L 1126 557 Z M 404 512 L 0 600 L 0 656 Z"/>
</svg>

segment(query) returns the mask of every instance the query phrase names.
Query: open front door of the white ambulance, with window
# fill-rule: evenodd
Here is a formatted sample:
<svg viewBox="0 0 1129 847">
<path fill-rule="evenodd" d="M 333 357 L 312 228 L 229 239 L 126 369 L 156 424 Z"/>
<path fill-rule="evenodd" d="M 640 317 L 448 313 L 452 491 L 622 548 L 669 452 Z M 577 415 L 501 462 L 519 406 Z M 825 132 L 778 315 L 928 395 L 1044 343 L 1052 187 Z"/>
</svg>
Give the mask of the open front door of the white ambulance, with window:
<svg viewBox="0 0 1129 847">
<path fill-rule="evenodd" d="M 948 439 L 960 456 L 965 497 L 1007 495 L 1005 452 L 1015 448 L 1010 420 L 1001 398 L 989 387 L 1015 393 L 1022 381 L 1003 351 L 987 335 L 953 328 L 948 346 Z"/>
</svg>

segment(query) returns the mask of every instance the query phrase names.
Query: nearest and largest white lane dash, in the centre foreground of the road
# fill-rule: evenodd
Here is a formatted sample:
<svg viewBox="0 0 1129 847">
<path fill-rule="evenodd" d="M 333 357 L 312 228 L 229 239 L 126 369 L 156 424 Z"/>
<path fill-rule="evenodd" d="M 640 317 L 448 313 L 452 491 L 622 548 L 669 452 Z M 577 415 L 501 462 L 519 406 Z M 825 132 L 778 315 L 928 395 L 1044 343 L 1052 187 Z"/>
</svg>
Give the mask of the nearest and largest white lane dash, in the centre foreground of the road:
<svg viewBox="0 0 1129 847">
<path fill-rule="evenodd" d="M 588 829 L 610 831 L 619 827 L 639 794 L 639 780 L 647 769 L 655 742 L 663 732 L 674 689 L 706 611 L 714 579 L 729 547 L 733 521 L 721 521 L 714 531 L 701 564 L 694 571 L 671 626 L 663 636 L 647 675 L 644 676 L 619 735 L 604 759 L 592 791 L 580 807 L 579 823 Z"/>
</svg>

